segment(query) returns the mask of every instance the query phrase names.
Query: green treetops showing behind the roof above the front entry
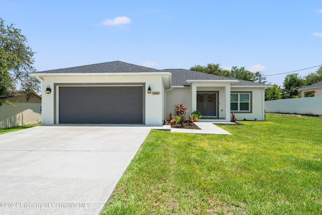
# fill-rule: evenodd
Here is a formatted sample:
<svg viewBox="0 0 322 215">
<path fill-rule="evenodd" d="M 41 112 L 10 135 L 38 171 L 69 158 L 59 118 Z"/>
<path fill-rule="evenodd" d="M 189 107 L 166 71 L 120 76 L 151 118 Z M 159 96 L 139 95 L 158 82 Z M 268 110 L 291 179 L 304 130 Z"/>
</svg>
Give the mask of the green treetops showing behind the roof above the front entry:
<svg viewBox="0 0 322 215">
<path fill-rule="evenodd" d="M 266 83 L 266 78 L 261 77 L 260 71 L 253 73 L 252 71 L 246 70 L 245 67 L 238 68 L 237 66 L 232 66 L 230 70 L 220 68 L 219 63 L 208 63 L 206 66 L 194 65 L 190 68 L 193 71 L 201 71 L 202 73 L 208 73 L 217 76 L 224 76 L 233 79 Z"/>
</svg>

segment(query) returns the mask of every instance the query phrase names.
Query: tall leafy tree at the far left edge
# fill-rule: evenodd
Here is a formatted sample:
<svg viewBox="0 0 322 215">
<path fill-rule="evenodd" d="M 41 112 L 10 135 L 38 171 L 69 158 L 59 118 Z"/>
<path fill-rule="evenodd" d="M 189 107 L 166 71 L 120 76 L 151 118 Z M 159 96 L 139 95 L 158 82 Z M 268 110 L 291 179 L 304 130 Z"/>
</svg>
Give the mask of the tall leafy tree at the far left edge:
<svg viewBox="0 0 322 215">
<path fill-rule="evenodd" d="M 40 90 L 40 82 L 29 76 L 36 71 L 32 66 L 34 53 L 21 30 L 14 24 L 5 25 L 0 18 L 0 105 L 8 103 L 4 94 L 16 90 L 18 86 L 26 92 L 27 98 L 32 96 L 32 92 Z"/>
</svg>

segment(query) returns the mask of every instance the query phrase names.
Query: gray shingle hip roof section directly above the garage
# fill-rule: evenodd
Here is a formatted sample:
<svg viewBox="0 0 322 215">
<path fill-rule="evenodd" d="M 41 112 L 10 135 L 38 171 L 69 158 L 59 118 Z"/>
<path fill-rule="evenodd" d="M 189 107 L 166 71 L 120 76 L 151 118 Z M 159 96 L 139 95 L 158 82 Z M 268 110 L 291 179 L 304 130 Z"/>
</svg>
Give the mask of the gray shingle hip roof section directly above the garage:
<svg viewBox="0 0 322 215">
<path fill-rule="evenodd" d="M 134 65 L 122 61 L 111 61 L 105 63 L 97 63 L 91 65 L 75 66 L 69 68 L 60 68 L 47 71 L 39 71 L 37 73 L 154 73 L 161 70 L 148 68 L 144 66 Z"/>
</svg>

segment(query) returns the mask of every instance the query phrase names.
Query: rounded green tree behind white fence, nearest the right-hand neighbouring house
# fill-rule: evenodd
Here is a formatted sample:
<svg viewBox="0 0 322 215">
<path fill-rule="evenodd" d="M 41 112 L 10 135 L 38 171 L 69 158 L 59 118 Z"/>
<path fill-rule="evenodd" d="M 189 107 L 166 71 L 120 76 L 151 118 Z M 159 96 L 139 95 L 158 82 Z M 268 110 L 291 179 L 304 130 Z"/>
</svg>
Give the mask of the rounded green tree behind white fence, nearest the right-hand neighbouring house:
<svg viewBox="0 0 322 215">
<path fill-rule="evenodd" d="M 304 80 L 298 75 L 298 73 L 287 75 L 283 82 L 284 94 L 282 98 L 299 98 L 301 95 L 298 89 L 302 88 L 303 86 Z"/>
</svg>

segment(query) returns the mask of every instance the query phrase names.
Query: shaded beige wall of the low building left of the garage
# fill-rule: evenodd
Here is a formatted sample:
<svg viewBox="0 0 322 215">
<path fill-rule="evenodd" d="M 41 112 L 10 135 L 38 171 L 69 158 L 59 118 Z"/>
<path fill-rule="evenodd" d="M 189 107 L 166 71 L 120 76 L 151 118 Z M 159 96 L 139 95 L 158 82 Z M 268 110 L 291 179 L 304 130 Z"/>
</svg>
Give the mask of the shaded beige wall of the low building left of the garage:
<svg viewBox="0 0 322 215">
<path fill-rule="evenodd" d="M 12 103 L 0 106 L 0 128 L 36 124 L 41 120 L 40 103 Z"/>
</svg>

